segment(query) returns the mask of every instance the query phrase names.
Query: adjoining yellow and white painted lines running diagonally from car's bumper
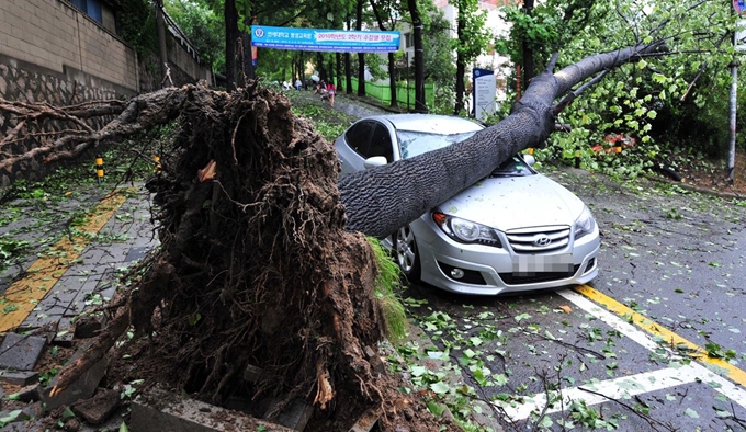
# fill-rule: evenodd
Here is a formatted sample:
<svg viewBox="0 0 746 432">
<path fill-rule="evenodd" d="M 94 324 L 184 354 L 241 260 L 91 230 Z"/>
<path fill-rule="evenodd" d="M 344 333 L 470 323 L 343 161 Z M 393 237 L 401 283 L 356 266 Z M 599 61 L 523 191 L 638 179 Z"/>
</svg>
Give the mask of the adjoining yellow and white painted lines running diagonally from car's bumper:
<svg viewBox="0 0 746 432">
<path fill-rule="evenodd" d="M 707 355 L 707 351 L 699 345 L 652 321 L 645 316 L 635 312 L 613 298 L 597 292 L 590 286 L 578 286 L 575 287 L 575 291 L 577 293 L 569 289 L 563 289 L 558 291 L 557 294 L 565 297 L 586 312 L 595 316 L 597 319 L 606 322 L 608 326 L 614 328 L 625 337 L 645 346 L 649 351 L 655 351 L 656 349 L 666 346 L 658 344 L 630 322 L 634 322 L 635 326 L 640 327 L 646 332 L 663 338 L 663 340 L 667 341 L 669 346 L 667 349 L 669 352 L 671 352 L 671 354 L 675 355 L 674 359 L 676 359 L 676 356 L 681 359 L 681 356 L 678 355 L 678 353 L 674 350 L 670 350 L 670 346 L 686 346 L 692 352 L 699 353 L 700 355 L 691 356 L 692 363 L 687 365 L 687 370 L 694 372 L 693 377 L 701 379 L 704 383 L 710 383 L 715 390 L 720 391 L 722 395 L 738 403 L 739 406 L 746 408 L 746 390 L 744 389 L 746 383 L 746 373 L 744 371 L 721 359 L 709 357 Z M 592 299 L 596 303 L 590 302 L 589 299 Z M 602 309 L 599 305 L 604 306 L 608 310 Z M 615 315 L 609 312 L 609 310 L 613 311 Z M 724 378 L 721 375 L 724 375 L 731 380 Z"/>
</svg>

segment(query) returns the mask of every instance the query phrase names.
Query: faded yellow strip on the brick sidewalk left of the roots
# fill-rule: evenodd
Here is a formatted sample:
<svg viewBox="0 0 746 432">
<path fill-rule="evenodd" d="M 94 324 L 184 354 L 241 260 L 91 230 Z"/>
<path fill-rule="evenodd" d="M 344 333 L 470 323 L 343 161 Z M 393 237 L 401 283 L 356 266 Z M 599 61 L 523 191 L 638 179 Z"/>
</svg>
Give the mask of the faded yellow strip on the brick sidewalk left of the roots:
<svg viewBox="0 0 746 432">
<path fill-rule="evenodd" d="M 127 196 L 122 191 L 115 191 L 101 200 L 88 213 L 86 224 L 76 227 L 79 234 L 63 236 L 47 253 L 31 264 L 25 277 L 13 282 L 0 295 L 2 307 L 0 332 L 11 331 L 26 319 L 38 302 L 80 257 L 92 236 L 103 228 L 126 200 Z"/>
</svg>

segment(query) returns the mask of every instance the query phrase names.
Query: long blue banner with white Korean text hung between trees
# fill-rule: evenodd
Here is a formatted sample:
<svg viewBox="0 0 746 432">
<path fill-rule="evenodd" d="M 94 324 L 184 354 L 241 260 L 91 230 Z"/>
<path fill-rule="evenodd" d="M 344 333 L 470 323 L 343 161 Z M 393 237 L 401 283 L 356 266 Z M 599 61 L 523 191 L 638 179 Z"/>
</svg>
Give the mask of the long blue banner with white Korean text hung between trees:
<svg viewBox="0 0 746 432">
<path fill-rule="evenodd" d="M 260 48 L 388 53 L 399 50 L 399 32 L 251 26 L 251 45 Z"/>
</svg>

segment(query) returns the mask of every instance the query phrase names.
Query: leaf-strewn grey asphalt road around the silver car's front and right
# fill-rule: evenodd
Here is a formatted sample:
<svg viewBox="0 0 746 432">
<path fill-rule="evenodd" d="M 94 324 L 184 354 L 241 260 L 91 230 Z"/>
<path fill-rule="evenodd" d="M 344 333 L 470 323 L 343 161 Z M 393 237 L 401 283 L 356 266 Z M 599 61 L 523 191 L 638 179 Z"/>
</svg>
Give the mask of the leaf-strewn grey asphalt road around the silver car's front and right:
<svg viewBox="0 0 746 432">
<path fill-rule="evenodd" d="M 594 212 L 599 276 L 490 298 L 411 286 L 422 351 L 499 400 L 506 430 L 746 430 L 746 202 L 546 173 Z"/>
</svg>

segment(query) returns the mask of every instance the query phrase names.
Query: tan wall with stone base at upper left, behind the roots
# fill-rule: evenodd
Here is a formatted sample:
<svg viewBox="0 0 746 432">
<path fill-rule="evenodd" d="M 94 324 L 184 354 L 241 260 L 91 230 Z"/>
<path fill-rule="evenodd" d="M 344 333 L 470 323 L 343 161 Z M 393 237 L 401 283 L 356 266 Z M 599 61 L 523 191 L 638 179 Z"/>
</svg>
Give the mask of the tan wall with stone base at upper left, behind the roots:
<svg viewBox="0 0 746 432">
<path fill-rule="evenodd" d="M 102 21 L 95 22 L 67 0 L 0 0 L 0 98 L 69 105 L 160 89 L 159 60 L 138 59 L 135 50 L 116 36 L 115 14 L 105 3 Z M 173 84 L 200 79 L 212 82 L 211 71 L 199 65 L 195 55 L 184 47 L 185 42 L 170 32 L 167 36 Z M 108 121 L 88 123 L 98 129 Z M 16 124 L 14 116 L 0 113 L 0 140 Z M 56 122 L 43 125 L 44 132 L 65 127 Z M 44 139 L 7 145 L 0 160 L 4 155 L 38 147 Z M 18 179 L 38 180 L 54 169 L 29 161 L 12 170 L 0 170 L 0 189 Z"/>
</svg>

